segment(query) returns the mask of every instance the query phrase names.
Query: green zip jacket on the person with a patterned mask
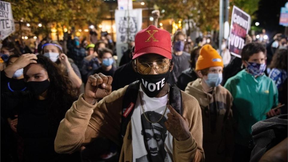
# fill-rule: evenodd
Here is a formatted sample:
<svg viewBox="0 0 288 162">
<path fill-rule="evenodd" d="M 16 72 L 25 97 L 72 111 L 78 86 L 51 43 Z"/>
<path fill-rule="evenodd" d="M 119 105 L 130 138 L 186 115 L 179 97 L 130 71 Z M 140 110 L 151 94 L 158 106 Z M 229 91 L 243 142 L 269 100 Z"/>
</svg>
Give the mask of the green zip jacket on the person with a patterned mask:
<svg viewBox="0 0 288 162">
<path fill-rule="evenodd" d="M 238 122 L 235 142 L 248 146 L 251 127 L 266 119 L 266 113 L 278 104 L 278 90 L 266 75 L 254 77 L 245 69 L 229 78 L 224 85 L 232 94 L 233 115 Z"/>
</svg>

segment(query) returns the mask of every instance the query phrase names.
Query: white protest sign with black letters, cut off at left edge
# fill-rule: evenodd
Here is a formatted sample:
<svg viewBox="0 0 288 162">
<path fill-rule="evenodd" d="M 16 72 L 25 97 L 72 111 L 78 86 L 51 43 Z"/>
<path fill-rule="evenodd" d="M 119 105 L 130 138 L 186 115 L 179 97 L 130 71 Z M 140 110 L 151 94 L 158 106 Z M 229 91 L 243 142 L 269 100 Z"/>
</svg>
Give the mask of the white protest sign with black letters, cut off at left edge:
<svg viewBox="0 0 288 162">
<path fill-rule="evenodd" d="M 0 37 L 1 40 L 7 38 L 15 32 L 14 19 L 12 15 L 11 4 L 0 1 Z"/>
</svg>

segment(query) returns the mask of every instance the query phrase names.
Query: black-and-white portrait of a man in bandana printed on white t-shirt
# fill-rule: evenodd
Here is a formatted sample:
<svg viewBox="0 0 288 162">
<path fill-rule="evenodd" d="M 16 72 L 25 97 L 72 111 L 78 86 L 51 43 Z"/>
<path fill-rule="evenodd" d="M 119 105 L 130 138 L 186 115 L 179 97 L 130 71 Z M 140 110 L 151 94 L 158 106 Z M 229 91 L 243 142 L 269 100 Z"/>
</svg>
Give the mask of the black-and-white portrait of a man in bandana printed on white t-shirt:
<svg viewBox="0 0 288 162">
<path fill-rule="evenodd" d="M 155 111 L 145 112 L 146 117 L 151 121 L 158 121 L 162 114 L 156 113 Z M 141 115 L 142 131 L 141 135 L 144 138 L 145 148 L 148 152 L 141 158 L 136 159 L 136 162 L 166 162 L 172 161 L 171 155 L 169 156 L 164 148 L 164 142 L 167 137 L 167 129 L 164 125 L 167 119 L 165 116 L 158 123 L 149 122 L 144 114 Z"/>
</svg>

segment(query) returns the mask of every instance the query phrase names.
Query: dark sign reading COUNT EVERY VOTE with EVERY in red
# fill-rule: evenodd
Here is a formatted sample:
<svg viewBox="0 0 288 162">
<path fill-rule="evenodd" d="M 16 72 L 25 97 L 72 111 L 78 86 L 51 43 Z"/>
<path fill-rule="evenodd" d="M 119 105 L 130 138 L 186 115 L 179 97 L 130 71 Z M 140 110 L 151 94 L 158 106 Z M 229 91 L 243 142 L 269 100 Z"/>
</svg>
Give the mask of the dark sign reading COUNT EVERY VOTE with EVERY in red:
<svg viewBox="0 0 288 162">
<path fill-rule="evenodd" d="M 245 37 L 250 29 L 250 15 L 233 6 L 230 35 L 229 35 L 229 51 L 232 55 L 241 58 L 241 50 L 245 45 Z"/>
</svg>

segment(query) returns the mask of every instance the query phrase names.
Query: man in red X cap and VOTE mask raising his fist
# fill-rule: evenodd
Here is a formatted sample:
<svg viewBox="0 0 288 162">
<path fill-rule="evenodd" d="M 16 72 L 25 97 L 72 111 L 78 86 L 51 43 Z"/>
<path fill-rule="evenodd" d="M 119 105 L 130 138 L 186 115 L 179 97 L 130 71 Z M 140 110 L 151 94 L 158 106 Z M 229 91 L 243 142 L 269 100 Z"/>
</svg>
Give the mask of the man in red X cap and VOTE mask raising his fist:
<svg viewBox="0 0 288 162">
<path fill-rule="evenodd" d="M 201 109 L 167 83 L 171 59 L 169 32 L 152 25 L 138 32 L 133 61 L 140 80 L 111 93 L 111 76 L 89 76 L 60 123 L 55 151 L 106 137 L 120 146 L 119 161 L 204 161 Z"/>
</svg>

